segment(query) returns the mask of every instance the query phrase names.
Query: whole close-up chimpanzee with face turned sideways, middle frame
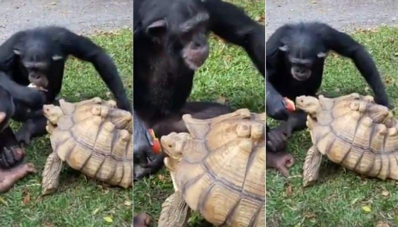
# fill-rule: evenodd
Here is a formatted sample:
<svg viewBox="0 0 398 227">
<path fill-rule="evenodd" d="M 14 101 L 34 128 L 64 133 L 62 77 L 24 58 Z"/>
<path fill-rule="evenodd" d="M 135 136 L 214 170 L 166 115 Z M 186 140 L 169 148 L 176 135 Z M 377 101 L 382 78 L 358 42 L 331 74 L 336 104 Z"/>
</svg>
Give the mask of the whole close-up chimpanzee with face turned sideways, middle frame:
<svg viewBox="0 0 398 227">
<path fill-rule="evenodd" d="M 210 31 L 243 47 L 265 76 L 265 27 L 231 3 L 221 0 L 135 0 L 133 16 L 133 102 L 134 110 L 146 127 L 155 127 L 173 116 L 181 117 L 195 71 L 208 56 Z M 215 115 L 212 111 L 206 113 L 200 117 Z M 168 130 L 154 131 L 160 137 Z M 137 137 L 135 133 L 134 138 Z M 157 163 L 162 164 L 162 157 L 158 160 Z M 152 166 L 156 168 L 156 164 Z"/>
</svg>

